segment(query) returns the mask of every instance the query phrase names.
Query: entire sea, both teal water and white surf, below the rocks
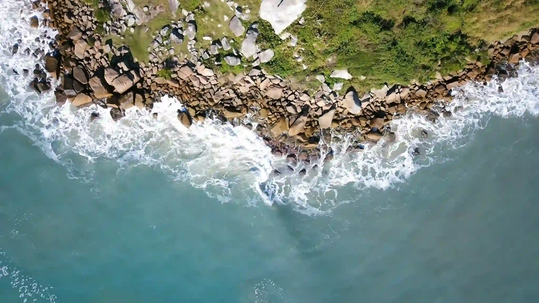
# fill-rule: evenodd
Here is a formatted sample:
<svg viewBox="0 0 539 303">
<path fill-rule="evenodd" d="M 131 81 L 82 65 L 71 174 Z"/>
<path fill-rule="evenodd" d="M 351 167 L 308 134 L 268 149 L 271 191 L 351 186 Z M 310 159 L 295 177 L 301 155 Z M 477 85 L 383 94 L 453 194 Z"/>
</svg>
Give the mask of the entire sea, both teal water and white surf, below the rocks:
<svg viewBox="0 0 539 303">
<path fill-rule="evenodd" d="M 27 5 L 0 0 L 0 302 L 539 300 L 539 67 L 299 176 L 181 100 L 114 122 L 32 92 Z"/>
</svg>

